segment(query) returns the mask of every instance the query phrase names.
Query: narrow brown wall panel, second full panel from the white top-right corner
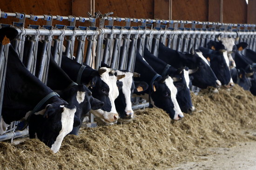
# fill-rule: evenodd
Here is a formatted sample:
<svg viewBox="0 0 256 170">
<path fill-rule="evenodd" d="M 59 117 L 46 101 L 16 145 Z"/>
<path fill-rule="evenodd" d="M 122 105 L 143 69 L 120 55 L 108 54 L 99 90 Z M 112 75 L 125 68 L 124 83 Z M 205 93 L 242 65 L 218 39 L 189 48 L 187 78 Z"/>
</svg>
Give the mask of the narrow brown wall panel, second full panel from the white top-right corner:
<svg viewBox="0 0 256 170">
<path fill-rule="evenodd" d="M 208 20 L 210 22 L 221 22 L 221 0 L 209 0 Z"/>
</svg>

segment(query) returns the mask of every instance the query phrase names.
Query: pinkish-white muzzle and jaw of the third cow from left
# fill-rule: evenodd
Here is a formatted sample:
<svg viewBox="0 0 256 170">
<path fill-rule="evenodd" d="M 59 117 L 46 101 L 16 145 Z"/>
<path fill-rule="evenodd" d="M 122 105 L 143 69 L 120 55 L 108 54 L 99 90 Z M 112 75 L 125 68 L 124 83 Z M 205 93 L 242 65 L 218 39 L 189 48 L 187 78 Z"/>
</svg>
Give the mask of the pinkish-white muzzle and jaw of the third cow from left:
<svg viewBox="0 0 256 170">
<path fill-rule="evenodd" d="M 93 113 L 94 116 L 101 118 L 101 120 L 107 123 L 112 123 L 119 119 L 118 113 L 106 112 L 101 109 L 91 110 L 90 112 Z"/>
</svg>

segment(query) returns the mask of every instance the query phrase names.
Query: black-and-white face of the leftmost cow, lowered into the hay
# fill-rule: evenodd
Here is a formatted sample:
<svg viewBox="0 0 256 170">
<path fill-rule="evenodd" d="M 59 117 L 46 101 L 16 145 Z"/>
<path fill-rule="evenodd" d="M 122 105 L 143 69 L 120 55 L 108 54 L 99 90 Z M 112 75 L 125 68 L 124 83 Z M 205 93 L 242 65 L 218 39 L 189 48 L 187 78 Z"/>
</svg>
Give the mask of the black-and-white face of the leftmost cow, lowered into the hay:
<svg viewBox="0 0 256 170">
<path fill-rule="evenodd" d="M 29 137 L 34 138 L 36 133 L 37 138 L 56 153 L 63 138 L 72 131 L 75 111 L 74 105 L 47 105 L 45 112 L 40 112 L 41 115 L 31 116 Z"/>
</svg>

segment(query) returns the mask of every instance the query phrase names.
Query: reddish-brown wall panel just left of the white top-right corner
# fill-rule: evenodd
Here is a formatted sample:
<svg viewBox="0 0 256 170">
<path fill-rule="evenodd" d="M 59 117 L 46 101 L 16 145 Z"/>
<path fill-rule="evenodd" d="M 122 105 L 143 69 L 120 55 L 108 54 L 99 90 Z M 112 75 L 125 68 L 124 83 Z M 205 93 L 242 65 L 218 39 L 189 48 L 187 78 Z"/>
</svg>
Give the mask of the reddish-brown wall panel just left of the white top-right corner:
<svg viewBox="0 0 256 170">
<path fill-rule="evenodd" d="M 223 0 L 223 22 L 246 23 L 247 4 L 245 0 Z"/>
</svg>

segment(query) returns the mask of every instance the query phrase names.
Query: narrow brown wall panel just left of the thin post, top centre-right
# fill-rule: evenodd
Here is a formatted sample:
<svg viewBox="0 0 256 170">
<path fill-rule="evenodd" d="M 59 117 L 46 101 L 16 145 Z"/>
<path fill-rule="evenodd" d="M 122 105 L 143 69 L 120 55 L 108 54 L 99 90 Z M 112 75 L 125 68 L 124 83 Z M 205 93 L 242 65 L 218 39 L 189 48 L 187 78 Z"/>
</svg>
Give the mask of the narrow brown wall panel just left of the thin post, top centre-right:
<svg viewBox="0 0 256 170">
<path fill-rule="evenodd" d="M 170 19 L 170 0 L 154 0 L 154 18 Z"/>
</svg>

